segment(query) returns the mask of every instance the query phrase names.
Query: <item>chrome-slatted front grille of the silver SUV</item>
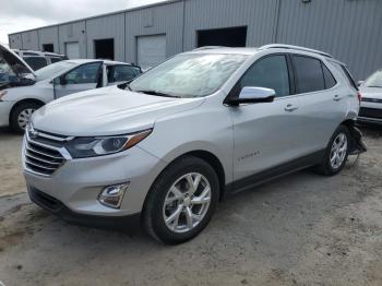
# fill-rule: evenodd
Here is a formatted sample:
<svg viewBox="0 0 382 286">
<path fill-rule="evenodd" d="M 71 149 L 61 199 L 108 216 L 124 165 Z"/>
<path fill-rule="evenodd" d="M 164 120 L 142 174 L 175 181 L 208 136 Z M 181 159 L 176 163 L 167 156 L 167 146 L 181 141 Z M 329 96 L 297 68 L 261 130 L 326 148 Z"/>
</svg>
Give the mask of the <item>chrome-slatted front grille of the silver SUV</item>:
<svg viewBox="0 0 382 286">
<path fill-rule="evenodd" d="M 24 153 L 26 167 L 39 175 L 52 175 L 65 163 L 65 158 L 60 151 L 63 148 L 67 139 L 40 131 L 27 130 Z"/>
</svg>

